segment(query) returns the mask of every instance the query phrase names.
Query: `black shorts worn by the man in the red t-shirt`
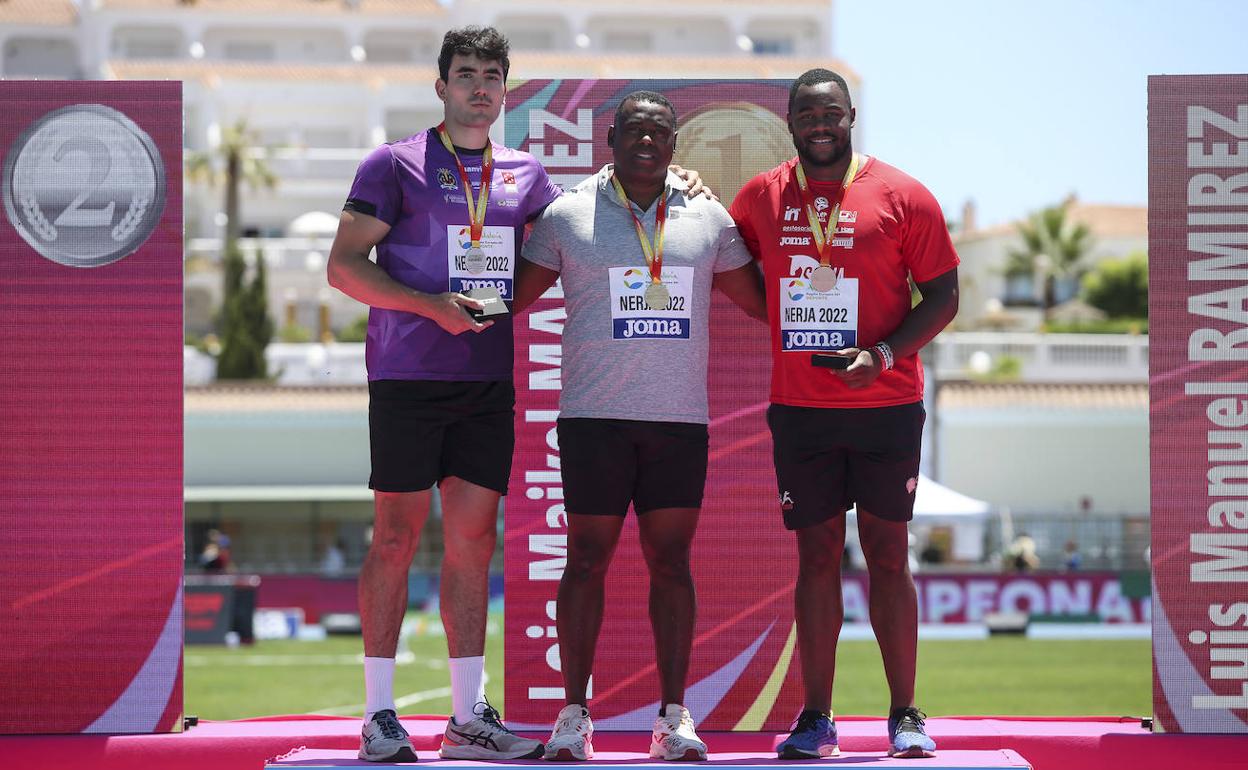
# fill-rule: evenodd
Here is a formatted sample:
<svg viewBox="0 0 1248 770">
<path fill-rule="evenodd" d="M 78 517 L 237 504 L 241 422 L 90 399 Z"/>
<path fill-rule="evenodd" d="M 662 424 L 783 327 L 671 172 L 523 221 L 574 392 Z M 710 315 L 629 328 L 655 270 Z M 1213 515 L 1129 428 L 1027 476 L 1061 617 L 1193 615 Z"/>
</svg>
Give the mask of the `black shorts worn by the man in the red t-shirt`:
<svg viewBox="0 0 1248 770">
<path fill-rule="evenodd" d="M 820 524 L 855 503 L 890 522 L 914 518 L 925 417 L 922 402 L 875 409 L 771 404 L 784 525 Z"/>
</svg>

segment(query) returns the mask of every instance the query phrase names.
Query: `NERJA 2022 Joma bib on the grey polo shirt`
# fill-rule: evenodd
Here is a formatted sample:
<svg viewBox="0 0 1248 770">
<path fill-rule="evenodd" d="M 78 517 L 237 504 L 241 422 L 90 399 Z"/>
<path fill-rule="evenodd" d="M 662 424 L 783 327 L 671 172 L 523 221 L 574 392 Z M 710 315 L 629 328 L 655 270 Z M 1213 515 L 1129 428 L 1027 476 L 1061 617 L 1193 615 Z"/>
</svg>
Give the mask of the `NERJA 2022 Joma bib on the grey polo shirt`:
<svg viewBox="0 0 1248 770">
<path fill-rule="evenodd" d="M 663 285 L 670 298 L 668 307 L 653 311 L 645 303 L 650 272 L 643 267 L 612 267 L 613 339 L 689 339 L 693 316 L 694 268 L 664 267 Z"/>
</svg>

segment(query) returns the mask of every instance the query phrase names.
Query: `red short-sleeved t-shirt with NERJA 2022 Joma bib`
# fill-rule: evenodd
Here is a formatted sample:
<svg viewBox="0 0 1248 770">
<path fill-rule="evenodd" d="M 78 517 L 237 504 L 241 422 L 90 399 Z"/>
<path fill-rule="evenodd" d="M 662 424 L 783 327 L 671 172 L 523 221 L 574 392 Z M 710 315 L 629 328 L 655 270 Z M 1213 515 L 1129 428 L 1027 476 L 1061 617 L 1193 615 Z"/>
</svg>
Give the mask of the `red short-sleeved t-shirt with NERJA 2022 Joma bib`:
<svg viewBox="0 0 1248 770">
<path fill-rule="evenodd" d="M 957 267 L 940 203 L 926 187 L 874 157 L 859 170 L 841 205 L 830 255 L 842 268 L 836 288 L 815 292 L 819 265 L 794 167 L 797 158 L 741 187 L 729 213 L 750 253 L 763 262 L 771 324 L 771 401 L 795 407 L 867 408 L 922 401 L 919 356 L 897 358 L 869 388 L 850 389 L 810 364 L 812 351 L 867 348 L 891 334 L 910 312 L 910 285 Z M 810 180 L 820 221 L 840 195 L 840 182 Z M 824 200 L 820 200 L 824 198 Z"/>
</svg>

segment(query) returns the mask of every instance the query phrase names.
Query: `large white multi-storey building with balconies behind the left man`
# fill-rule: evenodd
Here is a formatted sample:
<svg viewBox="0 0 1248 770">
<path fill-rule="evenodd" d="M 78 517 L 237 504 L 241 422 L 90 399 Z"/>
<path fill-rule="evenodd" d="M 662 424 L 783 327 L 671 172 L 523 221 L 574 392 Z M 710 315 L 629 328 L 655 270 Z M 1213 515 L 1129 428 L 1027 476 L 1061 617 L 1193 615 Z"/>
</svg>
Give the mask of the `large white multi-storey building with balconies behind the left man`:
<svg viewBox="0 0 1248 770">
<path fill-rule="evenodd" d="M 188 152 L 245 120 L 280 180 L 242 191 L 241 232 L 258 238 L 243 247 L 267 258 L 270 307 L 314 328 L 328 305 L 341 328 L 364 308 L 322 291 L 332 231 L 292 223 L 336 216 L 366 152 L 441 120 L 433 81 L 448 29 L 499 27 L 520 77 L 789 79 L 825 66 L 856 87 L 831 56 L 831 0 L 4 0 L 0 76 L 181 80 Z M 197 332 L 220 298 L 221 197 L 186 187 Z"/>
</svg>

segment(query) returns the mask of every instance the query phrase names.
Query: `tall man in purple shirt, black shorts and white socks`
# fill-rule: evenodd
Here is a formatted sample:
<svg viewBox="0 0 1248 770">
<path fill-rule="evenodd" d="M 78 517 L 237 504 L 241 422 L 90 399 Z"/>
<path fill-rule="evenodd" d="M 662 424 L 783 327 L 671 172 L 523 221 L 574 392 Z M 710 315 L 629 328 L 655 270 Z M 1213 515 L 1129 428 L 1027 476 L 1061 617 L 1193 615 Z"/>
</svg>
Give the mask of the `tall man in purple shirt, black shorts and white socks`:
<svg viewBox="0 0 1248 770">
<path fill-rule="evenodd" d="M 490 287 L 512 298 L 524 226 L 559 188 L 532 155 L 489 141 L 507 94 L 507 40 L 492 27 L 451 30 L 438 67 L 444 122 L 364 158 L 329 251 L 329 283 L 371 306 L 376 507 L 359 574 L 367 700 L 359 758 L 416 761 L 396 716 L 394 651 L 434 484 L 454 709 L 441 754 L 539 758 L 542 744 L 510 733 L 485 701 L 488 570 L 510 475 L 515 391 L 510 316 L 474 319 L 466 308 L 482 303 L 466 292 Z"/>
</svg>

